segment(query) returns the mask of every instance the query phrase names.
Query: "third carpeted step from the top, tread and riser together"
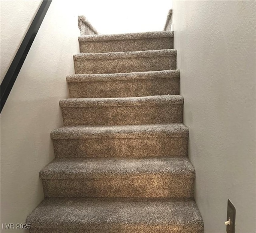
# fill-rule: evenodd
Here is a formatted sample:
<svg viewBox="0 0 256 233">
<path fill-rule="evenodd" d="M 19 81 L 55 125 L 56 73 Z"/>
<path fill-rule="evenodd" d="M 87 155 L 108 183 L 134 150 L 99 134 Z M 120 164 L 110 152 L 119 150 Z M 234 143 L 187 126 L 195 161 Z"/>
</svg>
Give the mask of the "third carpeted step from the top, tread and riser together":
<svg viewBox="0 0 256 233">
<path fill-rule="evenodd" d="M 178 95 L 180 71 L 160 70 L 67 76 L 70 98 Z"/>
</svg>

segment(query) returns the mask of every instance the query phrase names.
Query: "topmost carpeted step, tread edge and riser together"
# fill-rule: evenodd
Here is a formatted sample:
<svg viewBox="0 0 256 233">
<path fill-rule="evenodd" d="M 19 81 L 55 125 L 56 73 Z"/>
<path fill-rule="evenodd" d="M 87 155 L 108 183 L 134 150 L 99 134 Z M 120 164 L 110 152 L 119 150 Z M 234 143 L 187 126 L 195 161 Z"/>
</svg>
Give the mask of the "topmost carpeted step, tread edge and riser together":
<svg viewBox="0 0 256 233">
<path fill-rule="evenodd" d="M 173 32 L 140 32 L 78 37 L 80 53 L 128 52 L 173 48 Z"/>
</svg>

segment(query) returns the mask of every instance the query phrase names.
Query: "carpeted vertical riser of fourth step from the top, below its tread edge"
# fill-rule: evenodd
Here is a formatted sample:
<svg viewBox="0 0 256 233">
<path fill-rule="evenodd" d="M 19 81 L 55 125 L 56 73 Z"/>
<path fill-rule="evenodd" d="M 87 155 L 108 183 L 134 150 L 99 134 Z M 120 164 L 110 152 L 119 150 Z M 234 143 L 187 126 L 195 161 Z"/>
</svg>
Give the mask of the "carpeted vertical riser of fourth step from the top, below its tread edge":
<svg viewBox="0 0 256 233">
<path fill-rule="evenodd" d="M 182 104 L 165 106 L 113 106 L 65 108 L 62 107 L 64 125 L 139 125 L 181 123 Z"/>
</svg>

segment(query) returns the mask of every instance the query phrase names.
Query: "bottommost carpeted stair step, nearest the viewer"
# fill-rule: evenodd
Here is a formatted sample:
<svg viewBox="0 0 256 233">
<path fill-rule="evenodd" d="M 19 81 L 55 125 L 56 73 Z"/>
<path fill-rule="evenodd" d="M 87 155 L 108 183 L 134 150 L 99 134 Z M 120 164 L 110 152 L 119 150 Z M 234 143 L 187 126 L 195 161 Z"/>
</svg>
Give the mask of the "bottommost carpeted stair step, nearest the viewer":
<svg viewBox="0 0 256 233">
<path fill-rule="evenodd" d="M 203 233 L 193 199 L 46 198 L 30 233 Z"/>
</svg>

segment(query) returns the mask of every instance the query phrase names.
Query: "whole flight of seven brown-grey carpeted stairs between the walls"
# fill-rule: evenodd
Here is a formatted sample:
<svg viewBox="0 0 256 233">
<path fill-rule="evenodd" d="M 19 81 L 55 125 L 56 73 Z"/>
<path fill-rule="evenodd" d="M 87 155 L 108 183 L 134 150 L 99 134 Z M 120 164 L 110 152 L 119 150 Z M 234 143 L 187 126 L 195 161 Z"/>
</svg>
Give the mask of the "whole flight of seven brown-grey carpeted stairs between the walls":
<svg viewBox="0 0 256 233">
<path fill-rule="evenodd" d="M 80 36 L 31 233 L 202 233 L 173 32 Z"/>
</svg>

